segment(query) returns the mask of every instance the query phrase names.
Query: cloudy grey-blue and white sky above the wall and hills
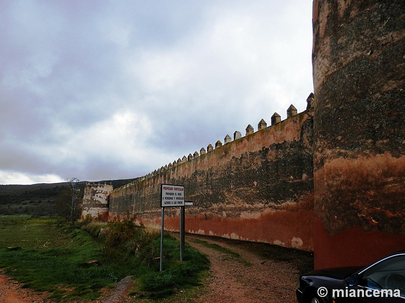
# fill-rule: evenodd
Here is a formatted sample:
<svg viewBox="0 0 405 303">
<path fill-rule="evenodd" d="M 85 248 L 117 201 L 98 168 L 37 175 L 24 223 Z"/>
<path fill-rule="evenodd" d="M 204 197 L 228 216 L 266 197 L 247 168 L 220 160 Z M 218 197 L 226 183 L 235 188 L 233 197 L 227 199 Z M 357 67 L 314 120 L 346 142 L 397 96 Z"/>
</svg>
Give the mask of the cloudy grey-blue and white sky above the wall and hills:
<svg viewBox="0 0 405 303">
<path fill-rule="evenodd" d="M 143 176 L 313 91 L 312 0 L 0 1 L 0 184 Z"/>
</svg>

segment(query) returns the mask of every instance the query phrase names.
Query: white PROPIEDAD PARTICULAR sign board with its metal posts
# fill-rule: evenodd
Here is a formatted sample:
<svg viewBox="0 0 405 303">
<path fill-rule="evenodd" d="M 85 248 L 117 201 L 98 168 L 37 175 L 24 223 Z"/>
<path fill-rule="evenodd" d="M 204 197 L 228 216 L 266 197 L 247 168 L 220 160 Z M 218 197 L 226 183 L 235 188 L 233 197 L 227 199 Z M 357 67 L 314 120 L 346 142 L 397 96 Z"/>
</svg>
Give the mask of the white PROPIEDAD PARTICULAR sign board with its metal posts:
<svg viewBox="0 0 405 303">
<path fill-rule="evenodd" d="M 160 231 L 160 271 L 163 271 L 163 233 L 165 229 L 165 207 L 183 207 L 184 208 L 184 186 L 161 184 L 161 231 Z M 180 211 L 181 213 L 181 211 Z M 180 215 L 181 220 L 181 215 Z M 183 220 L 184 222 L 184 220 Z M 180 222 L 181 230 L 181 222 Z M 184 233 L 184 230 L 183 230 Z M 180 236 L 181 237 L 181 236 Z M 181 241 L 180 241 L 181 242 Z M 180 260 L 182 260 L 182 247 L 180 247 Z"/>
</svg>

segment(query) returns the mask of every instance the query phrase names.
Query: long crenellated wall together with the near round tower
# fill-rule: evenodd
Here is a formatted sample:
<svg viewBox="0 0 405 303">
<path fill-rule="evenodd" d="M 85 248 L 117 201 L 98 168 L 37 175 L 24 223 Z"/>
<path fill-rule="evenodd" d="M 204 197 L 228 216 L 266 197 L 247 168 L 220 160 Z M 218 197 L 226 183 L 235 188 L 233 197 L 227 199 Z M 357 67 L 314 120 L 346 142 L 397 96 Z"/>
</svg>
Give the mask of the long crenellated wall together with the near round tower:
<svg viewBox="0 0 405 303">
<path fill-rule="evenodd" d="M 315 269 L 405 249 L 405 2 L 313 0 L 315 98 L 110 194 L 159 226 L 161 183 L 184 185 L 186 230 L 314 250 Z M 312 109 L 313 105 L 313 109 Z M 170 209 L 167 229 L 178 229 Z"/>
</svg>

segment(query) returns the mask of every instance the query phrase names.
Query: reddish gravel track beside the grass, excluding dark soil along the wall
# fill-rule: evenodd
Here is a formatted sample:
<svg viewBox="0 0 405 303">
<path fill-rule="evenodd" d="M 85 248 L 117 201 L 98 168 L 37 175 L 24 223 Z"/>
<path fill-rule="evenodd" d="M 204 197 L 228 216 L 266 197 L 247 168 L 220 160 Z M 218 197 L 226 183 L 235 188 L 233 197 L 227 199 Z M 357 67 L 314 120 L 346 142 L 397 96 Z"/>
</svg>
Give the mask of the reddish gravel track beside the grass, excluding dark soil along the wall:
<svg viewBox="0 0 405 303">
<path fill-rule="evenodd" d="M 190 241 L 200 239 L 237 252 L 240 258 Z M 227 244 L 226 240 L 198 235 L 187 235 L 188 243 L 208 256 L 211 261 L 208 293 L 195 302 L 296 302 L 295 288 L 298 269 L 289 262 L 274 262 Z"/>
</svg>

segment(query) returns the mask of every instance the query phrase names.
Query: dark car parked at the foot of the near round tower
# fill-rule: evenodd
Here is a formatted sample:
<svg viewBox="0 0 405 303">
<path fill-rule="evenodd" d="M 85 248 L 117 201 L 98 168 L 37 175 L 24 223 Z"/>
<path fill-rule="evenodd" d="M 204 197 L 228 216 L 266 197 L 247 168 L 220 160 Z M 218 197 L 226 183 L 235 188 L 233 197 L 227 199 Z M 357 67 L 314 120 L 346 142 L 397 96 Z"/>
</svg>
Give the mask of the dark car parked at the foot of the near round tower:
<svg viewBox="0 0 405 303">
<path fill-rule="evenodd" d="M 316 270 L 299 277 L 300 303 L 405 303 L 405 250 L 366 267 Z"/>
</svg>

